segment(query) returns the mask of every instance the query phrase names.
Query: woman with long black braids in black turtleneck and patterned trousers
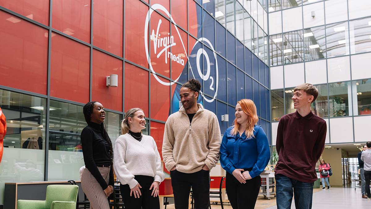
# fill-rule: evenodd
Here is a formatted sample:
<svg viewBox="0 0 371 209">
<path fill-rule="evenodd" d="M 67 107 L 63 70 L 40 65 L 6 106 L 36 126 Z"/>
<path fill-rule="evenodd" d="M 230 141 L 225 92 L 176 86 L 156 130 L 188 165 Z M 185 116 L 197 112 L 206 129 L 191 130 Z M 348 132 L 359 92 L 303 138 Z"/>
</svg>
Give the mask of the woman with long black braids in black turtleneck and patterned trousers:
<svg viewBox="0 0 371 209">
<path fill-rule="evenodd" d="M 109 209 L 107 197 L 114 192 L 113 150 L 105 125 L 105 111 L 99 102 L 83 107 L 86 126 L 81 132 L 85 170 L 81 187 L 90 201 L 90 209 Z"/>
</svg>

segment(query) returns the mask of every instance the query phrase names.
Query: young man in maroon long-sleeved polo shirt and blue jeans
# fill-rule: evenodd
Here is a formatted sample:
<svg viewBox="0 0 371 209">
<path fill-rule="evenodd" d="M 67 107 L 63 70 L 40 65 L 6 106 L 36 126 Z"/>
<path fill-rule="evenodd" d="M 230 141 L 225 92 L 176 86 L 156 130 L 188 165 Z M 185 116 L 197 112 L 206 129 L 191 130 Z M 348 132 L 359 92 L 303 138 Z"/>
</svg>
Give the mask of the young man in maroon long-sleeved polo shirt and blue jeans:
<svg viewBox="0 0 371 209">
<path fill-rule="evenodd" d="M 296 209 L 312 208 L 315 165 L 324 150 L 327 129 L 325 120 L 311 111 L 317 96 L 318 89 L 312 84 L 295 87 L 292 101 L 296 112 L 282 116 L 278 123 L 277 209 L 290 209 L 293 194 Z"/>
</svg>

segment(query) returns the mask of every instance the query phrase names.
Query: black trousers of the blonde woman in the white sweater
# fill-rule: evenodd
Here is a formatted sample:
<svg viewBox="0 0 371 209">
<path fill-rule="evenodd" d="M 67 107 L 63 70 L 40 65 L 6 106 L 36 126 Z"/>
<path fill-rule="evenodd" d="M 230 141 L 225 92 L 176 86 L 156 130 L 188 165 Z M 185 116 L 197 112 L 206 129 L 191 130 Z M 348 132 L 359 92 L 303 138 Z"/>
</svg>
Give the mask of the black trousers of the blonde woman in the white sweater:
<svg viewBox="0 0 371 209">
<path fill-rule="evenodd" d="M 135 198 L 134 194 L 130 196 L 129 184 L 121 184 L 120 192 L 122 201 L 125 204 L 125 209 L 160 209 L 160 200 L 158 196 L 151 196 L 153 189 L 150 190 L 150 187 L 154 180 L 153 177 L 137 175 L 134 179 L 137 180 L 142 187 L 139 188 L 142 195 L 139 196 L 139 198 Z"/>
</svg>

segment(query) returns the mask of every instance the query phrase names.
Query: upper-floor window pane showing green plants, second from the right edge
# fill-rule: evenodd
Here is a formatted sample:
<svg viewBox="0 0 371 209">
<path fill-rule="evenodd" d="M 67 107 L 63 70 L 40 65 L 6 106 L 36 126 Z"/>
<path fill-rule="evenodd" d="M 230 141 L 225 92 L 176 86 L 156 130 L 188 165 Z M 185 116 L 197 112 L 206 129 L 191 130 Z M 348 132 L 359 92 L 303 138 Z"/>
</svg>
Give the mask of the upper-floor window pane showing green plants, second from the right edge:
<svg viewBox="0 0 371 209">
<path fill-rule="evenodd" d="M 339 82 L 328 84 L 329 90 L 329 115 L 330 117 L 341 117 L 352 115 L 351 86 L 350 82 Z"/>
</svg>

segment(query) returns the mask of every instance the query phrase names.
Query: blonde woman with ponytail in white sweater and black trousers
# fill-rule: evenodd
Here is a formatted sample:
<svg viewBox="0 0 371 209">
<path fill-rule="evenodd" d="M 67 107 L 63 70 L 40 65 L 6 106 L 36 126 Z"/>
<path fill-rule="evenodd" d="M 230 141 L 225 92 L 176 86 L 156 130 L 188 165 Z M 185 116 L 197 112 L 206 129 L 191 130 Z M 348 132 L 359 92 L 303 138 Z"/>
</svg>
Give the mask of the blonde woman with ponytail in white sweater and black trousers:
<svg viewBox="0 0 371 209">
<path fill-rule="evenodd" d="M 121 123 L 122 135 L 115 142 L 114 171 L 126 209 L 159 209 L 158 187 L 165 175 L 156 142 L 143 135 L 142 129 L 143 110 L 129 109 Z"/>
</svg>

